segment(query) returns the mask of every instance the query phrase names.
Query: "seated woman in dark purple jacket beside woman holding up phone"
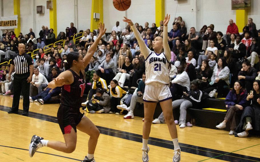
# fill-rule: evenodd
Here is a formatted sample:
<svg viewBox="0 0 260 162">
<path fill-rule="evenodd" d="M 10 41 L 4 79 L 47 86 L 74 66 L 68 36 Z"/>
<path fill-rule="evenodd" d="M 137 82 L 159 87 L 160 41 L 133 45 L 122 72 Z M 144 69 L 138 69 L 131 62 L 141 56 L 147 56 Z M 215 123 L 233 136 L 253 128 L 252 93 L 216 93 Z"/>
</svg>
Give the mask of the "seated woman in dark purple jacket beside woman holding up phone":
<svg viewBox="0 0 260 162">
<path fill-rule="evenodd" d="M 234 87 L 227 94 L 225 105 L 227 108 L 227 114 L 224 121 L 219 123 L 216 127 L 219 129 L 225 128 L 227 121 L 230 122 L 229 135 L 234 134 L 234 130 L 237 127 L 236 114 L 242 114 L 244 108 L 247 106 L 247 91 L 242 88 L 242 83 L 238 80 L 235 82 Z"/>
</svg>

